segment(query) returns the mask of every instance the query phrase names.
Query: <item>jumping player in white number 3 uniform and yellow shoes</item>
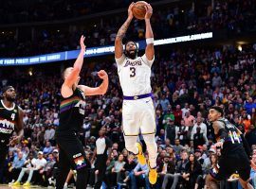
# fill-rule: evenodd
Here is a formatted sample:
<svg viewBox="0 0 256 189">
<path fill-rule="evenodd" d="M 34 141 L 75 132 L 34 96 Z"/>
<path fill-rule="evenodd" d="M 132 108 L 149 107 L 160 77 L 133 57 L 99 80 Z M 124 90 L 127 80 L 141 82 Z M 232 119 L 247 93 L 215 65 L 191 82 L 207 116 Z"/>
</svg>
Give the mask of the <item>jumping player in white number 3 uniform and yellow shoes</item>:
<svg viewBox="0 0 256 189">
<path fill-rule="evenodd" d="M 122 39 L 132 22 L 132 12 L 135 3 L 128 9 L 128 18 L 119 28 L 115 41 L 115 58 L 118 64 L 119 81 L 123 93 L 122 105 L 122 129 L 127 150 L 137 154 L 138 163 L 145 164 L 146 159 L 142 152 L 142 146 L 137 143 L 139 130 L 149 152 L 149 180 L 155 184 L 156 152 L 155 143 L 155 108 L 152 100 L 151 66 L 155 60 L 154 35 L 150 24 L 153 9 L 149 4 L 145 5 L 146 24 L 146 50 L 142 57 L 137 57 L 137 44 L 128 42 L 123 51 Z"/>
</svg>

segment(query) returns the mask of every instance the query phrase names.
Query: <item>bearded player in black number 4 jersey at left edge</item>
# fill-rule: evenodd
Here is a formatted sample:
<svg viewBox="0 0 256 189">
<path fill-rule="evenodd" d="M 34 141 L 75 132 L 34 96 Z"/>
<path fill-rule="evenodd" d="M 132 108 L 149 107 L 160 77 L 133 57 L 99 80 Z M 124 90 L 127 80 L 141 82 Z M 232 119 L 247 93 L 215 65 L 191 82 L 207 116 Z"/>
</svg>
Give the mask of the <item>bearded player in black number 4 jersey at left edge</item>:
<svg viewBox="0 0 256 189">
<path fill-rule="evenodd" d="M 23 136 L 23 115 L 22 109 L 14 103 L 16 92 L 12 86 L 2 89 L 3 99 L 0 102 L 0 167 L 5 162 L 9 145 L 16 144 Z M 12 132 L 16 129 L 17 136 L 10 141 Z"/>
</svg>

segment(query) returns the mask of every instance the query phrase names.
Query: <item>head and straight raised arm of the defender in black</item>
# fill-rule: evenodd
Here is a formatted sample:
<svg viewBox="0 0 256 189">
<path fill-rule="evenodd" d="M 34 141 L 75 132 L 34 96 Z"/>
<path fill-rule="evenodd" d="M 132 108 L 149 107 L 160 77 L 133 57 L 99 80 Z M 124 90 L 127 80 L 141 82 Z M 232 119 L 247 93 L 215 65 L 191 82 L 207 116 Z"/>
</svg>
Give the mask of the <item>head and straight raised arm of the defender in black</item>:
<svg viewBox="0 0 256 189">
<path fill-rule="evenodd" d="M 82 69 L 83 55 L 85 52 L 85 45 L 83 43 L 84 39 L 85 37 L 83 36 L 80 39 L 81 51 L 74 63 L 73 68 L 67 68 L 64 71 L 64 84 L 61 91 L 64 97 L 68 97 L 73 94 L 72 86 L 78 81 L 79 74 Z"/>
</svg>

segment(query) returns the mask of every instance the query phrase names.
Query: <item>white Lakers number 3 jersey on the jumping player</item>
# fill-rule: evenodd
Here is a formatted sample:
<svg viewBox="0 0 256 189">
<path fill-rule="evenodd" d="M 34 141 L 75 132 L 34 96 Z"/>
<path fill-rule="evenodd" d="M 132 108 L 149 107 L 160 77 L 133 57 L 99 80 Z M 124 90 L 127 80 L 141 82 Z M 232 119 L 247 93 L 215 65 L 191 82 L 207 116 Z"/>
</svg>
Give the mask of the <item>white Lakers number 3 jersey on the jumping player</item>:
<svg viewBox="0 0 256 189">
<path fill-rule="evenodd" d="M 134 96 L 151 93 L 151 66 L 154 62 L 146 55 L 132 60 L 125 55 L 116 59 L 118 64 L 119 81 L 123 95 Z"/>
</svg>

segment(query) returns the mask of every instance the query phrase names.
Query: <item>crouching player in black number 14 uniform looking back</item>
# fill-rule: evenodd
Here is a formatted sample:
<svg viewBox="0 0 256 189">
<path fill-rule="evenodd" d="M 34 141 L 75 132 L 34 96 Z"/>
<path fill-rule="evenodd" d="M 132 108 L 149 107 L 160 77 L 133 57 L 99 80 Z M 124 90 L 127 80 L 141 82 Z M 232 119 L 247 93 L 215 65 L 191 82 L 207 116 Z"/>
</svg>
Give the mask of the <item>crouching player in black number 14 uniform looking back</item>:
<svg viewBox="0 0 256 189">
<path fill-rule="evenodd" d="M 209 111 L 209 119 L 217 139 L 215 146 L 221 147 L 219 170 L 208 176 L 209 187 L 218 188 L 217 180 L 225 180 L 237 171 L 243 188 L 252 189 L 249 184 L 250 162 L 243 146 L 243 133 L 223 118 L 223 113 L 222 108 L 217 106 L 211 107 Z"/>
</svg>

